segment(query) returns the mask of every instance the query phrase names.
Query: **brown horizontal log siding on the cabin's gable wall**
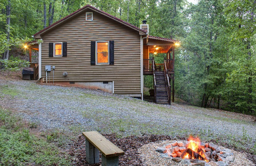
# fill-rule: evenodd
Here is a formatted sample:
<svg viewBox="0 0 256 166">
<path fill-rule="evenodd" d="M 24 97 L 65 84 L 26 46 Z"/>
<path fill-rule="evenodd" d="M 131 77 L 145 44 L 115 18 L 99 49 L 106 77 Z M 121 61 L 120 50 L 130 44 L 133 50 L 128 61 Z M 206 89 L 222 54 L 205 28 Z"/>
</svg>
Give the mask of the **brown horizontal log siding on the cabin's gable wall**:
<svg viewBox="0 0 256 166">
<path fill-rule="evenodd" d="M 85 12 L 93 12 L 92 21 L 85 21 Z M 42 78 L 45 65 L 54 65 L 54 82 L 114 81 L 116 94 L 141 94 L 139 32 L 88 9 L 41 38 Z M 111 40 L 114 65 L 91 65 L 91 41 Z M 50 42 L 67 42 L 67 57 L 49 57 Z"/>
</svg>

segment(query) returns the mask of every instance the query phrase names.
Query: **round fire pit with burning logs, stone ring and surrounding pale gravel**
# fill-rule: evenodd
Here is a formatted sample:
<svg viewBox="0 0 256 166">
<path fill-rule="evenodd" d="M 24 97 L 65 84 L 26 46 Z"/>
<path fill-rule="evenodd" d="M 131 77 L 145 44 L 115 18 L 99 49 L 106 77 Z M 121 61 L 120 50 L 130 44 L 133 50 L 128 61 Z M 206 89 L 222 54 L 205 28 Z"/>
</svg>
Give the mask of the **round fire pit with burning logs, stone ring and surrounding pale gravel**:
<svg viewBox="0 0 256 166">
<path fill-rule="evenodd" d="M 213 143 L 203 143 L 199 138 L 161 141 L 143 145 L 138 149 L 148 166 L 253 166 L 246 154 Z"/>
</svg>

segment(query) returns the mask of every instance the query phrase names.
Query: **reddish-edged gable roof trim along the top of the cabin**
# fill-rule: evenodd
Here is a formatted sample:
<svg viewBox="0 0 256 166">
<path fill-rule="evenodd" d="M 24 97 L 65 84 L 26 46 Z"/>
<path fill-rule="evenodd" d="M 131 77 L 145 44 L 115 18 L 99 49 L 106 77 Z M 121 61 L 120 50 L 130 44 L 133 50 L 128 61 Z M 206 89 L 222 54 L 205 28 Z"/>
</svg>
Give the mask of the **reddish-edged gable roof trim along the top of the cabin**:
<svg viewBox="0 0 256 166">
<path fill-rule="evenodd" d="M 132 25 L 132 24 L 130 24 L 128 22 L 125 22 L 122 19 L 118 19 L 117 17 L 112 16 L 112 15 L 110 15 L 110 14 L 104 12 L 104 11 L 101 11 L 101 10 L 91 6 L 91 5 L 86 5 L 86 6 L 82 7 L 81 9 L 78 9 L 77 11 L 75 11 L 75 12 L 69 14 L 68 16 L 64 17 L 63 19 L 60 19 L 59 21 L 53 23 L 52 25 L 50 25 L 50 26 L 44 28 L 43 30 L 37 32 L 36 34 L 33 35 L 33 37 L 34 38 L 40 38 L 41 34 L 44 34 L 47 31 L 51 30 L 53 27 L 58 26 L 59 24 L 61 24 L 61 23 L 65 22 L 65 21 L 75 17 L 76 15 L 80 14 L 81 12 L 83 12 L 86 9 L 91 9 L 91 10 L 96 11 L 96 12 L 98 12 L 98 13 L 100 13 L 100 14 L 102 14 L 102 15 L 110 18 L 110 19 L 113 19 L 113 20 L 115 20 L 117 22 L 120 22 L 121 24 L 123 24 L 125 26 L 128 26 L 128 27 L 130 27 L 130 28 L 140 32 L 140 34 L 146 34 L 147 33 L 146 31 L 144 31 L 144 30 L 142 30 L 142 29 L 140 29 L 140 28 L 138 28 L 138 27 L 136 27 L 136 26 L 134 26 L 134 25 Z"/>
</svg>

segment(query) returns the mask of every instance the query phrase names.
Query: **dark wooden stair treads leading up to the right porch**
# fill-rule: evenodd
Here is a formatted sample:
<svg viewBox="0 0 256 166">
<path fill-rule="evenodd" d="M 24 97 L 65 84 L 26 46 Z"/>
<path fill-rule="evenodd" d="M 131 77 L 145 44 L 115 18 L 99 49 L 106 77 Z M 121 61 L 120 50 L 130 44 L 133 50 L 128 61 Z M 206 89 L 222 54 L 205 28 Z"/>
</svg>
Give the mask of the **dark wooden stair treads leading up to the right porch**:
<svg viewBox="0 0 256 166">
<path fill-rule="evenodd" d="M 168 91 L 166 87 L 164 71 L 156 71 L 155 77 L 156 77 L 156 103 L 164 103 L 164 104 L 170 103 L 168 98 Z"/>
</svg>

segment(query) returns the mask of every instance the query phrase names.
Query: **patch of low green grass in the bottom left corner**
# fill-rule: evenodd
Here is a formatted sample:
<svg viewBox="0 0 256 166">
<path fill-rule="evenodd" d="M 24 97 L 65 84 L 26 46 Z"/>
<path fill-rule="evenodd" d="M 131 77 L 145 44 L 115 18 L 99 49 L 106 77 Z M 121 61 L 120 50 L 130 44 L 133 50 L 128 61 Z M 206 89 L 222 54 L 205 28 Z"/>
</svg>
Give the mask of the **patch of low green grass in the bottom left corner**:
<svg viewBox="0 0 256 166">
<path fill-rule="evenodd" d="M 70 165 L 67 155 L 52 142 L 58 137 L 38 138 L 24 127 L 11 111 L 0 108 L 0 165 Z M 36 127 L 35 124 L 32 124 Z"/>
</svg>

